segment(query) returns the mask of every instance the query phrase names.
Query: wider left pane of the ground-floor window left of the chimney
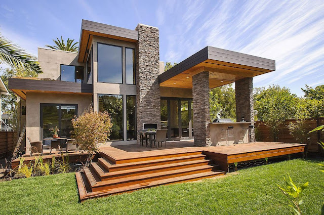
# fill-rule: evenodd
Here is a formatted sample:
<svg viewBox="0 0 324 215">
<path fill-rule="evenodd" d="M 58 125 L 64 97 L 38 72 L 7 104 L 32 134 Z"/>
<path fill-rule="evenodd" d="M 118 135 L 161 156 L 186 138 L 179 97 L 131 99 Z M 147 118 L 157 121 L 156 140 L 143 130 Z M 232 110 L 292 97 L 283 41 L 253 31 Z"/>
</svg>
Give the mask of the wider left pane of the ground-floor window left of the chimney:
<svg viewBox="0 0 324 215">
<path fill-rule="evenodd" d="M 99 111 L 107 111 L 112 120 L 109 140 L 124 140 L 123 132 L 123 96 L 98 95 Z"/>
</svg>

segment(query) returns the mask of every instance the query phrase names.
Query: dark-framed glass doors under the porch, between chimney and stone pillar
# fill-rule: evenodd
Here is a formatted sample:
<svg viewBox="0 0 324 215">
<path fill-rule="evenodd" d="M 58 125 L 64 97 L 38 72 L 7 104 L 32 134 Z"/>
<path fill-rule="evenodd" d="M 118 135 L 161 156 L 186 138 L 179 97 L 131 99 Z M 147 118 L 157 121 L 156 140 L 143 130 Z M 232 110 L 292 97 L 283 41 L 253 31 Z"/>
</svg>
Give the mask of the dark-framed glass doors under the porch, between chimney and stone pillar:
<svg viewBox="0 0 324 215">
<path fill-rule="evenodd" d="M 161 98 L 160 106 L 161 129 L 168 130 L 168 140 L 180 140 L 193 137 L 192 99 Z"/>
</svg>

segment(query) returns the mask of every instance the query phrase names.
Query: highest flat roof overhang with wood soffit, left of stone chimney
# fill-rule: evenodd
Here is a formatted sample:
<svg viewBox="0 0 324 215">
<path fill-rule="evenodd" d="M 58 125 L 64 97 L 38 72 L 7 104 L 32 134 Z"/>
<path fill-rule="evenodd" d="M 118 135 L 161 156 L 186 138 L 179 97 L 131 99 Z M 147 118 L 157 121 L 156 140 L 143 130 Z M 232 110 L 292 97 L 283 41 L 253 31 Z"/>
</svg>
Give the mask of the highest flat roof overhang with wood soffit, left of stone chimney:
<svg viewBox="0 0 324 215">
<path fill-rule="evenodd" d="M 120 28 L 83 19 L 79 40 L 78 62 L 87 61 L 93 36 L 102 36 L 130 42 L 136 42 L 138 40 L 138 32 L 136 30 Z"/>
</svg>

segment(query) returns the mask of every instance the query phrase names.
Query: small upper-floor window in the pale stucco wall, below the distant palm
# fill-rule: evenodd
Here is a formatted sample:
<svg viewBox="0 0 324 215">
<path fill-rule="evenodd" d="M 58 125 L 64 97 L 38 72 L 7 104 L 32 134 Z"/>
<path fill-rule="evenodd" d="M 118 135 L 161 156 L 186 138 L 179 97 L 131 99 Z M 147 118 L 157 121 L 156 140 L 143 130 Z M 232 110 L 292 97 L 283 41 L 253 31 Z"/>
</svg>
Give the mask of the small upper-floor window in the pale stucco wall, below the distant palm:
<svg viewBox="0 0 324 215">
<path fill-rule="evenodd" d="M 84 82 L 84 67 L 61 65 L 61 80 L 83 83 Z"/>
</svg>

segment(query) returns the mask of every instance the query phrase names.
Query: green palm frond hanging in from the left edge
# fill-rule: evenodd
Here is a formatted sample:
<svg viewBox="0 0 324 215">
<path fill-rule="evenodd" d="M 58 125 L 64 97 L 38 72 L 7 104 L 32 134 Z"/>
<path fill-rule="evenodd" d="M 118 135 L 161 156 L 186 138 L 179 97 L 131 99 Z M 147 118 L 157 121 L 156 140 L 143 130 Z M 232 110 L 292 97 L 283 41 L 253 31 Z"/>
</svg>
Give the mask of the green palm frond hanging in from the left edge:
<svg viewBox="0 0 324 215">
<path fill-rule="evenodd" d="M 6 63 L 11 67 L 42 73 L 41 65 L 37 58 L 18 45 L 13 44 L 0 33 L 0 62 Z"/>
</svg>

